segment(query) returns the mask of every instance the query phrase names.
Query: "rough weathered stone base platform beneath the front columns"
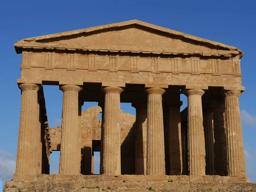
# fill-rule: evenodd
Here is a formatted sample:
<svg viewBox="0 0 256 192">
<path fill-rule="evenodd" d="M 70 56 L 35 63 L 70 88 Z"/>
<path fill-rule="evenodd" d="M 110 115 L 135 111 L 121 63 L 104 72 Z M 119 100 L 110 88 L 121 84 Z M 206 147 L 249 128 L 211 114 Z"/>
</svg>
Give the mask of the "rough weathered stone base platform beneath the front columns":
<svg viewBox="0 0 256 192">
<path fill-rule="evenodd" d="M 39 175 L 38 175 L 39 176 Z M 79 180 L 79 175 L 70 178 L 58 175 L 56 181 L 46 179 L 44 175 L 38 181 L 7 181 L 4 192 L 84 192 L 84 191 L 160 191 L 160 192 L 188 192 L 188 191 L 254 191 L 256 183 L 248 183 L 244 176 L 221 177 L 216 175 L 87 175 L 86 181 Z M 74 180 L 76 177 L 76 180 Z M 147 178 L 147 180 L 142 178 Z M 14 187 L 15 186 L 15 187 Z"/>
</svg>

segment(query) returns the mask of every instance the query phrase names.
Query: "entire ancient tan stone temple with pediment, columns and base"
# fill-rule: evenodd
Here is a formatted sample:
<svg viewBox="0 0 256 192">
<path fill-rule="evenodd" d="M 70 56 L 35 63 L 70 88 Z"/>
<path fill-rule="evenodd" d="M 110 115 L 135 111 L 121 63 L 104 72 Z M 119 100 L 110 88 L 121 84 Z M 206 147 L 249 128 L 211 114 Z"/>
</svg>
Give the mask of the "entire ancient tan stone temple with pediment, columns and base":
<svg viewBox="0 0 256 192">
<path fill-rule="evenodd" d="M 20 40 L 15 50 L 20 127 L 6 192 L 256 189 L 245 177 L 236 47 L 130 20 Z M 44 85 L 63 92 L 55 129 Z M 99 106 L 82 112 L 88 101 Z M 49 174 L 52 151 L 61 153 L 59 174 Z"/>
</svg>

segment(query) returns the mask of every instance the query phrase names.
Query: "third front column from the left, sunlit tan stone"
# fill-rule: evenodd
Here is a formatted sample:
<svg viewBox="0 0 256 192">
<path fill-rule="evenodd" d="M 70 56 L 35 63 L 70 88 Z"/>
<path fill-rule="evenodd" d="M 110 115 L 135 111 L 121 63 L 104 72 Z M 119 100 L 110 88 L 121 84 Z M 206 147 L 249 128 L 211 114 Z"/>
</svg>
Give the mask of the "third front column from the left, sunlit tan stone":
<svg viewBox="0 0 256 192">
<path fill-rule="evenodd" d="M 120 94 L 123 89 L 108 86 L 105 92 L 104 125 L 102 130 L 102 174 L 121 175 Z"/>
</svg>

